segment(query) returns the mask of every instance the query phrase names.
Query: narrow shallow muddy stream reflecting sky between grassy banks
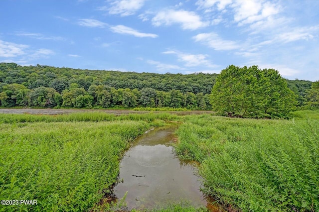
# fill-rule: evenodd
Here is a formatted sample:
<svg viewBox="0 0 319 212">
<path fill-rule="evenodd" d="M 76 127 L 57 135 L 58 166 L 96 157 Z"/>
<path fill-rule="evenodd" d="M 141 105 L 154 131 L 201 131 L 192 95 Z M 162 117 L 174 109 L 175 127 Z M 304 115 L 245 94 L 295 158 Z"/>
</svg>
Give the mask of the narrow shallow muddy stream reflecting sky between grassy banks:
<svg viewBox="0 0 319 212">
<path fill-rule="evenodd" d="M 196 168 L 180 161 L 169 146 L 176 126 L 157 128 L 136 139 L 120 165 L 120 180 L 114 194 L 122 198 L 127 192 L 129 210 L 148 209 L 156 205 L 188 201 L 206 206 L 199 191 Z"/>
</svg>

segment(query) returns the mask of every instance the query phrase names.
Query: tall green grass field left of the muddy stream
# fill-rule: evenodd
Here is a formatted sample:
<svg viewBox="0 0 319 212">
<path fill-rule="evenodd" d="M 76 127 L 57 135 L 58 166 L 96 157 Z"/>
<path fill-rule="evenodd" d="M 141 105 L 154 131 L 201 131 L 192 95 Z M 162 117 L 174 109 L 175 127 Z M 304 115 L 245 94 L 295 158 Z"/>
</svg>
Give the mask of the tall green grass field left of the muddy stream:
<svg viewBox="0 0 319 212">
<path fill-rule="evenodd" d="M 1 206 L 5 212 L 88 211 L 116 182 L 128 141 L 150 127 L 142 120 L 93 122 L 93 114 L 4 116 L 16 123 L 0 124 L 0 199 L 37 200 Z M 65 121 L 77 119 L 91 122 Z M 39 120 L 60 122 L 22 122 Z"/>
</svg>

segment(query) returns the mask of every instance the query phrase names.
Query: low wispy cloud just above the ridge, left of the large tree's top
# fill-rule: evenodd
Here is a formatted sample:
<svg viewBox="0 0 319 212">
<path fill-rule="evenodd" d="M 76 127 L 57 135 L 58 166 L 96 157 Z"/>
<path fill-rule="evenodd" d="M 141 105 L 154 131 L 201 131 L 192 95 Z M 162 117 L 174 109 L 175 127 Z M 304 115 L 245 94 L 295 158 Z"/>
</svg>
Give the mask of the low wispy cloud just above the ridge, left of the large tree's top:
<svg viewBox="0 0 319 212">
<path fill-rule="evenodd" d="M 163 54 L 175 54 L 178 57 L 178 61 L 185 62 L 186 67 L 194 67 L 194 66 L 207 66 L 207 67 L 215 67 L 215 65 L 211 64 L 208 61 L 207 55 L 204 54 L 186 54 L 178 51 L 165 51 Z"/>
</svg>

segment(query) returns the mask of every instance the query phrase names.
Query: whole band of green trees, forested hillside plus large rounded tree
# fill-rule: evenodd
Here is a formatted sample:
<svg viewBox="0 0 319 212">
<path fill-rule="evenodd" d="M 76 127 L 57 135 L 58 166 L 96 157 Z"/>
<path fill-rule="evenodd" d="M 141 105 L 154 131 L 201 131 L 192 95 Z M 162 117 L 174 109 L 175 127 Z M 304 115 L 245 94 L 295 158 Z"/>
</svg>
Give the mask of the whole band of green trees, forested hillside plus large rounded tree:
<svg viewBox="0 0 319 212">
<path fill-rule="evenodd" d="M 223 111 L 221 108 L 225 109 L 226 103 L 235 100 L 230 104 L 233 116 L 263 117 L 272 110 L 267 108 L 267 101 L 281 106 L 281 109 L 273 108 L 274 111 L 289 108 L 288 111 L 294 106 L 316 109 L 319 107 L 317 84 L 286 80 L 275 70 L 260 70 L 257 66 L 229 66 L 219 75 L 182 75 L 0 63 L 0 106 L 144 106 Z M 285 101 L 293 106 L 287 107 L 284 99 L 289 95 L 284 98 L 283 91 L 290 95 Z"/>
</svg>

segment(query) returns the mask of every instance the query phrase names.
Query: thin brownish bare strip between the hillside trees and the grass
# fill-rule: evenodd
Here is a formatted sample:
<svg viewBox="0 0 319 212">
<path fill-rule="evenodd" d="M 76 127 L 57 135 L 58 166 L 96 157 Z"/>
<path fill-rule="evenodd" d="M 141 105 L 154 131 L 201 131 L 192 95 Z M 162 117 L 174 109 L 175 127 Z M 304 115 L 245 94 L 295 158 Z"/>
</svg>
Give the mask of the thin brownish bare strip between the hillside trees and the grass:
<svg viewBox="0 0 319 212">
<path fill-rule="evenodd" d="M 129 109 L 10 109 L 10 108 L 0 108 L 0 113 L 7 114 L 46 114 L 46 115 L 56 115 L 56 114 L 68 114 L 75 112 L 105 112 L 109 114 L 121 115 L 121 114 L 132 114 L 132 113 L 160 113 L 167 112 L 177 115 L 189 115 L 189 114 L 205 114 L 205 113 L 214 113 L 213 111 L 204 111 L 204 110 L 193 110 L 193 111 L 137 111 Z"/>
</svg>

